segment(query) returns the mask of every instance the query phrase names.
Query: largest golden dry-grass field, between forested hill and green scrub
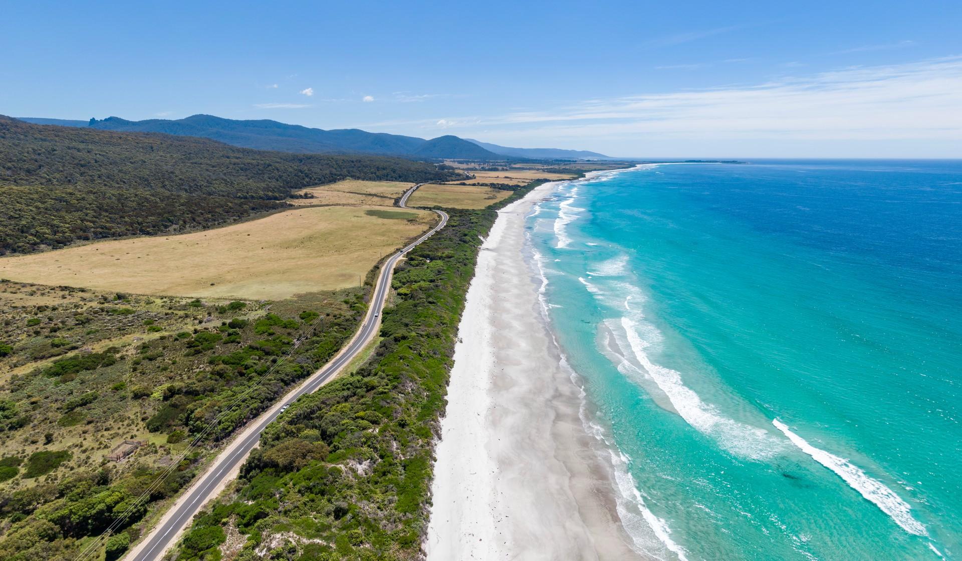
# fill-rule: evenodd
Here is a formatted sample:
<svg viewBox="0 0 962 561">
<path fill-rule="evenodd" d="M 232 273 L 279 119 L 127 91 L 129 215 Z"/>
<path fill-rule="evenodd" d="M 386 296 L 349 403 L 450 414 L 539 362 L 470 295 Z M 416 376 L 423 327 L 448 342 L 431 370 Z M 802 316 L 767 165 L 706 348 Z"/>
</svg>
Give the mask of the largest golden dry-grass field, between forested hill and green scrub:
<svg viewBox="0 0 962 561">
<path fill-rule="evenodd" d="M 468 187 L 476 188 L 476 187 Z M 505 196 L 508 193 L 505 192 Z M 206 232 L 111 240 L 0 258 L 0 278 L 97 290 L 280 300 L 358 284 L 435 215 L 308 207 Z"/>
</svg>

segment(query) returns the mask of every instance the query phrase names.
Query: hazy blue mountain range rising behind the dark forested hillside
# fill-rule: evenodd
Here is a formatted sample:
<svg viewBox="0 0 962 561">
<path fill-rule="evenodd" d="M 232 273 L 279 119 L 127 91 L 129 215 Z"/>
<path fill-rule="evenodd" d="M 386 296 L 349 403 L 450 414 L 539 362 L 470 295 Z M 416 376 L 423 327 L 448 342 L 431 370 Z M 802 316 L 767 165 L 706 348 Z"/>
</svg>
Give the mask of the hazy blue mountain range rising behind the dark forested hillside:
<svg viewBox="0 0 962 561">
<path fill-rule="evenodd" d="M 129 133 L 164 133 L 213 138 L 258 150 L 302 154 L 377 154 L 418 158 L 503 159 L 457 136 L 425 140 L 401 134 L 368 133 L 360 129 L 324 131 L 267 119 L 235 120 L 214 115 L 191 115 L 177 120 L 128 121 L 119 117 L 90 119 L 93 129 Z M 468 156 L 469 155 L 469 156 Z"/>
</svg>

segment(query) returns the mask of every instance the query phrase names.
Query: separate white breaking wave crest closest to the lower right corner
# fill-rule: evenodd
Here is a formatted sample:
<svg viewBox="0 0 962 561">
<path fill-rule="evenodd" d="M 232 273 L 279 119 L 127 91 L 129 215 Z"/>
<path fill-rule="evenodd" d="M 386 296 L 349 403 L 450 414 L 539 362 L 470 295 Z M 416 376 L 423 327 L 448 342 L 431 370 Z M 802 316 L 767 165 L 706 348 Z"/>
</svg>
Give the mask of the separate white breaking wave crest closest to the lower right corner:
<svg viewBox="0 0 962 561">
<path fill-rule="evenodd" d="M 805 439 L 798 436 L 795 432 L 792 432 L 789 427 L 781 421 L 773 419 L 772 425 L 778 428 L 778 430 L 781 430 L 799 450 L 812 456 L 815 461 L 835 472 L 837 476 L 845 479 L 848 486 L 858 491 L 862 497 L 873 502 L 882 512 L 889 515 L 896 524 L 899 524 L 903 530 L 917 536 L 928 535 L 925 526 L 912 517 L 910 512 L 912 507 L 881 481 L 868 476 L 861 469 L 852 465 L 847 459 L 808 444 Z"/>
</svg>

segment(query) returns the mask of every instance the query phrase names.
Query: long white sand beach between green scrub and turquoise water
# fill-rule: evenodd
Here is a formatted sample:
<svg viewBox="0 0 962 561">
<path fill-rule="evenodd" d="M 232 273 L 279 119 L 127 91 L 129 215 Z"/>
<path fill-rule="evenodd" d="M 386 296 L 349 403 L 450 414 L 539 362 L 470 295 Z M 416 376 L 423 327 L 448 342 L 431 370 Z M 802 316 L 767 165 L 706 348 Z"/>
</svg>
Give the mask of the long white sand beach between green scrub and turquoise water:
<svg viewBox="0 0 962 561">
<path fill-rule="evenodd" d="M 501 209 L 481 247 L 436 448 L 429 561 L 646 558 L 622 527 L 614 471 L 525 259 L 525 216 L 559 183 Z"/>
</svg>

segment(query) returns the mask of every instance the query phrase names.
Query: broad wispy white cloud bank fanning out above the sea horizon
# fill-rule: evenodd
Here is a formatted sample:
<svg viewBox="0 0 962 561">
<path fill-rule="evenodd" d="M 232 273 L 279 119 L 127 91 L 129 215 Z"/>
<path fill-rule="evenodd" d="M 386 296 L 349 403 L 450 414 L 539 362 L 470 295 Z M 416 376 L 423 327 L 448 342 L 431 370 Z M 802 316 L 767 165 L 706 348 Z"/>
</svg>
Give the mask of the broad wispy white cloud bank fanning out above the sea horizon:
<svg viewBox="0 0 962 561">
<path fill-rule="evenodd" d="M 586 100 L 556 110 L 409 122 L 498 138 L 962 140 L 962 56 L 849 67 L 766 84 Z"/>
</svg>

